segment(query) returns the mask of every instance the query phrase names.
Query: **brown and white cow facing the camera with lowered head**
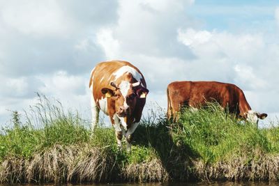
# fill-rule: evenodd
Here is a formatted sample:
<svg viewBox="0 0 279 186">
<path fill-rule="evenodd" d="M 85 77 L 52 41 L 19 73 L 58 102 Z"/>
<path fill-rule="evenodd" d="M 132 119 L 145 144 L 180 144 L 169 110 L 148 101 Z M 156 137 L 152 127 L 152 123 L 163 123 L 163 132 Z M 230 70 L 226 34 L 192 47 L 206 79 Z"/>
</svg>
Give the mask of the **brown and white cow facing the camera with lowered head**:
<svg viewBox="0 0 279 186">
<path fill-rule="evenodd" d="M 140 122 L 146 95 L 149 93 L 144 76 L 131 63 L 107 61 L 93 68 L 89 87 L 92 91 L 92 130 L 102 110 L 110 116 L 119 148 L 124 134 L 130 151 L 132 134 Z"/>
</svg>

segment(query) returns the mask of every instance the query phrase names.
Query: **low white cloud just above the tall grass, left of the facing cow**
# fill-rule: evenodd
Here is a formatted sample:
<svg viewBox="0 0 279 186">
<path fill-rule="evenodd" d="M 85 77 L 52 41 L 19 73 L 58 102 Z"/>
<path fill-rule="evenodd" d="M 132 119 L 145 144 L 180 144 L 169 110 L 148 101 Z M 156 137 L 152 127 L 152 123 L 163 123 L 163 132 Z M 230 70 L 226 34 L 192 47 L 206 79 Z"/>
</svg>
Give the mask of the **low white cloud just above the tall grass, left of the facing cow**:
<svg viewBox="0 0 279 186">
<path fill-rule="evenodd" d="M 23 109 L 37 102 L 36 92 L 59 100 L 65 109 L 78 109 L 84 118 L 90 118 L 88 81 L 89 77 L 68 75 L 63 70 L 52 75 L 5 79 L 0 84 L 0 121 L 8 122 L 11 111 L 17 110 L 23 114 Z M 34 85 L 34 82 L 37 83 Z"/>
</svg>

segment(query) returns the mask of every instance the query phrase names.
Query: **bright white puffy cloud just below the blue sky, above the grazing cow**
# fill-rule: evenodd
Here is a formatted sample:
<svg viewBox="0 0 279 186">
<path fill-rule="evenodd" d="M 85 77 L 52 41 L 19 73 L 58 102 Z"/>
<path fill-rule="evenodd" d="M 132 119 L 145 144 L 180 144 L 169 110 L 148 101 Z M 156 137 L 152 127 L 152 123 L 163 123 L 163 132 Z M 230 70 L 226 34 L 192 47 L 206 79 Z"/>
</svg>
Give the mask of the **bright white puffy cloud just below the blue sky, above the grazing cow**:
<svg viewBox="0 0 279 186">
<path fill-rule="evenodd" d="M 178 40 L 190 46 L 196 56 L 216 59 L 227 57 L 234 61 L 253 63 L 258 60 L 259 51 L 264 50 L 263 36 L 258 33 L 233 34 L 226 31 L 178 30 Z M 242 60 L 242 61 L 240 61 Z"/>
</svg>

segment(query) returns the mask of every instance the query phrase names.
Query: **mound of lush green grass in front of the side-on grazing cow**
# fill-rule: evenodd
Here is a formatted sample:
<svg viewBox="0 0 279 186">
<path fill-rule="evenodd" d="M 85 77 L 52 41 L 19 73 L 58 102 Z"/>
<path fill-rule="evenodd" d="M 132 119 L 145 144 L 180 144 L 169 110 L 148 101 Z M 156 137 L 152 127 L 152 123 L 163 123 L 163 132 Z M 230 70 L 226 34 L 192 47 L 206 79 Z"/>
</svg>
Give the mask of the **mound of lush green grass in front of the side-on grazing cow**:
<svg viewBox="0 0 279 186">
<path fill-rule="evenodd" d="M 278 127 L 259 129 L 255 123 L 239 121 L 225 113 L 217 104 L 197 111 L 184 109 L 179 126 L 173 130 L 175 143 L 189 146 L 204 163 L 243 155 L 252 159 L 259 151 L 279 153 Z"/>
</svg>

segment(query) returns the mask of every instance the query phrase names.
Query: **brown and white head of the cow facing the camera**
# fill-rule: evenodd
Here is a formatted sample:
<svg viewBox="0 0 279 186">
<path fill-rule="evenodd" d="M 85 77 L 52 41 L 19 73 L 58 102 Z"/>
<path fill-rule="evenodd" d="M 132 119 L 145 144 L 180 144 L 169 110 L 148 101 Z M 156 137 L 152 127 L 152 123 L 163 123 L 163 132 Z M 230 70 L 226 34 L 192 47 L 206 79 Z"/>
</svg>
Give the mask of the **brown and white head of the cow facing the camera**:
<svg viewBox="0 0 279 186">
<path fill-rule="evenodd" d="M 106 98 L 114 101 L 114 108 L 119 117 L 130 116 L 135 110 L 137 99 L 145 99 L 149 90 L 144 88 L 140 82 L 131 84 L 128 81 L 122 81 L 116 86 L 115 82 L 110 83 L 114 90 L 102 88 L 102 93 Z"/>
</svg>

